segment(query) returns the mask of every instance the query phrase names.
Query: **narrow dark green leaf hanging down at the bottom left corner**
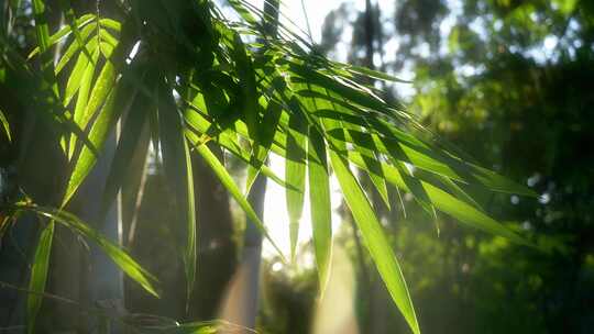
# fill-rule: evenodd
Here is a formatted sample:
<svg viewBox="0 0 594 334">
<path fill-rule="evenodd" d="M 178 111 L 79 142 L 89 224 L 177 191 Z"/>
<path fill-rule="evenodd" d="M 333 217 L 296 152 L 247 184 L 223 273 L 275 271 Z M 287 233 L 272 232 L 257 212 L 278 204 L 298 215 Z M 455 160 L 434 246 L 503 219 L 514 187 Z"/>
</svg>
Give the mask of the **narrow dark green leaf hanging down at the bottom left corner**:
<svg viewBox="0 0 594 334">
<path fill-rule="evenodd" d="M 47 223 L 43 229 L 35 255 L 33 256 L 33 267 L 29 279 L 29 290 L 44 292 L 47 281 L 47 269 L 50 268 L 50 254 L 52 253 L 52 240 L 54 237 L 54 222 Z M 40 312 L 43 297 L 31 293 L 26 298 L 26 332 L 35 333 L 35 320 Z"/>
</svg>

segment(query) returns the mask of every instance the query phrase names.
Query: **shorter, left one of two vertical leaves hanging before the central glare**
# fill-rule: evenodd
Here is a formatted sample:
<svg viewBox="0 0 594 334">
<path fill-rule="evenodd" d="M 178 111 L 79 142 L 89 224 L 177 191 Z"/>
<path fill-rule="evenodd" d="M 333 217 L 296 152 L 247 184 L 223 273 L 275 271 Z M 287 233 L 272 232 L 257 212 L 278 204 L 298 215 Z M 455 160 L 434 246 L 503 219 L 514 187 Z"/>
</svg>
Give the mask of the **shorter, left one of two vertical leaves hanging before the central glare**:
<svg viewBox="0 0 594 334">
<path fill-rule="evenodd" d="M 299 114 L 292 114 L 286 137 L 285 179 L 297 189 L 286 190 L 287 211 L 289 216 L 290 257 L 295 259 L 299 220 L 304 211 L 305 176 L 306 176 L 306 136 L 305 121 Z"/>
</svg>

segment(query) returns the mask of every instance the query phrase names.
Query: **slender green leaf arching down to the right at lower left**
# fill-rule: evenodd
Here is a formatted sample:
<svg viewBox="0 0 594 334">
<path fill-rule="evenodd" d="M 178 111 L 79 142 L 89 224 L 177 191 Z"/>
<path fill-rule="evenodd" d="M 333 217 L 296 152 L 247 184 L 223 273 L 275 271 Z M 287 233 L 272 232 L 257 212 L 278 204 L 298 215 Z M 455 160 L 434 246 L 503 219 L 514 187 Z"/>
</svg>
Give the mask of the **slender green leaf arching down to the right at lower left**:
<svg viewBox="0 0 594 334">
<path fill-rule="evenodd" d="M 82 222 L 76 215 L 68 213 L 66 211 L 63 211 L 63 210 L 56 210 L 56 209 L 45 208 L 45 207 L 19 205 L 18 208 L 21 210 L 34 212 L 41 216 L 48 218 L 52 221 L 58 222 L 67 226 L 68 229 L 82 235 L 87 240 L 95 242 L 101 248 L 101 250 L 103 250 L 103 253 L 106 253 L 118 265 L 118 267 L 120 267 L 120 269 L 122 269 L 123 272 L 125 272 L 132 280 L 138 282 L 148 293 L 158 298 L 158 293 L 154 287 L 154 283 L 156 282 L 156 278 L 153 275 L 151 275 L 148 271 L 146 271 L 144 268 L 142 268 L 142 266 L 139 265 L 122 248 L 120 248 L 118 245 L 116 245 L 114 243 L 106 238 L 101 233 L 90 227 L 89 224 Z M 47 227 L 50 226 L 53 231 L 53 223 L 47 225 Z M 51 236 L 47 236 L 47 237 L 51 243 Z M 48 256 L 48 254 L 46 256 Z M 37 290 L 33 290 L 33 291 L 37 291 Z"/>
</svg>

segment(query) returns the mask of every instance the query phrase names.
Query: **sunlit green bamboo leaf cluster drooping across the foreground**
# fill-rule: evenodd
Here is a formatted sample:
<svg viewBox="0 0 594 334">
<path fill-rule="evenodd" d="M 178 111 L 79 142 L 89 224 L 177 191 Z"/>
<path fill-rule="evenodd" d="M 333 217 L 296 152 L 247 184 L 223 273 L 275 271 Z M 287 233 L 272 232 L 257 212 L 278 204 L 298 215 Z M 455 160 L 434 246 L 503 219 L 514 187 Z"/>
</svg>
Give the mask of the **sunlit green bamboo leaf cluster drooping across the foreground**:
<svg viewBox="0 0 594 334">
<path fill-rule="evenodd" d="M 44 2 L 33 1 L 35 15 Z M 429 214 L 441 211 L 462 224 L 529 244 L 492 219 L 466 188 L 535 196 L 524 186 L 460 157 L 399 103 L 388 103 L 372 80 L 405 81 L 367 68 L 332 62 L 287 26 L 266 33 L 264 12 L 230 0 L 238 19 L 226 18 L 212 2 L 124 1 L 119 16 L 100 12 L 76 16 L 65 1 L 67 25 L 50 35 L 36 22 L 43 93 L 52 99 L 46 113 L 64 129 L 61 146 L 69 160 L 62 208 L 16 205 L 47 218 L 35 252 L 30 288 L 45 287 L 54 221 L 96 242 L 122 270 L 157 296 L 155 278 L 119 246 L 64 211 L 101 158 L 105 143 L 122 122 L 116 157 L 106 185 L 102 214 L 133 172 L 128 162 L 144 129 L 162 153 L 168 190 L 174 198 L 176 231 L 184 235 L 187 293 L 196 266 L 197 234 L 190 156 L 199 154 L 262 234 L 265 224 L 246 200 L 262 174 L 287 189 L 292 255 L 295 254 L 304 201 L 311 223 L 320 293 L 328 281 L 332 247 L 330 178 L 336 176 L 365 245 L 386 287 L 414 333 L 420 329 L 405 274 L 392 250 L 359 174 L 367 175 L 388 208 L 387 189 L 409 192 Z M 58 44 L 56 65 L 47 60 Z M 45 60 L 44 60 L 45 59 Z M 29 65 L 23 65 L 29 66 Z M 6 134 L 10 126 L 0 113 Z M 237 156 L 248 167 L 242 191 L 207 143 Z M 146 147 L 142 147 L 146 149 Z M 271 154 L 286 160 L 284 176 L 267 166 Z M 308 185 L 309 193 L 306 193 Z M 280 222 L 275 222 L 280 223 Z M 274 241 L 271 240 L 274 244 Z M 41 297 L 29 299 L 33 329 Z"/>
</svg>

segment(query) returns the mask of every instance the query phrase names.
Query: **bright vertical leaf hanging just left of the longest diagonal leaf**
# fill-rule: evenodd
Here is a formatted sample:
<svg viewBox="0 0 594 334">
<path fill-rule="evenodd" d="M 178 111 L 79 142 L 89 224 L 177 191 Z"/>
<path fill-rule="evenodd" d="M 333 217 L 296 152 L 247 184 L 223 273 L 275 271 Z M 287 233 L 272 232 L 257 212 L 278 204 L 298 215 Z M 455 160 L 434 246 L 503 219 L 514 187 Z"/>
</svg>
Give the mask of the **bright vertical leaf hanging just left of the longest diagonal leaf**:
<svg viewBox="0 0 594 334">
<path fill-rule="evenodd" d="M 328 285 L 330 258 L 332 256 L 332 213 L 330 181 L 323 136 L 310 127 L 308 141 L 309 202 L 311 203 L 311 231 L 318 268 L 320 296 Z"/>
</svg>

